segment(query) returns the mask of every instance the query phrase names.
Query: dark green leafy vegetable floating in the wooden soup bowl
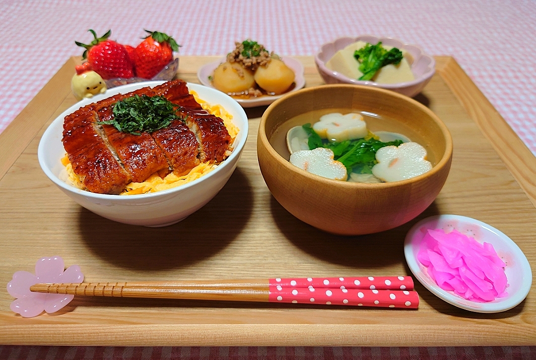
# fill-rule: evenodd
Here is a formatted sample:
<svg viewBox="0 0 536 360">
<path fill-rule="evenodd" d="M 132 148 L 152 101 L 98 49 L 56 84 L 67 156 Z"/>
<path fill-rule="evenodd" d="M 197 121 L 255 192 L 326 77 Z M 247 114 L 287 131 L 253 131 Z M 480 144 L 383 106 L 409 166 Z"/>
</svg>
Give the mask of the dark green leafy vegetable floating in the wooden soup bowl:
<svg viewBox="0 0 536 360">
<path fill-rule="evenodd" d="M 403 142 L 402 140 L 382 142 L 374 138 L 334 142 L 321 139 L 312 129 L 311 124 L 303 125 L 303 129 L 309 135 L 309 149 L 312 150 L 317 147 L 331 149 L 334 154 L 334 160 L 343 163 L 348 174 L 351 172 L 372 174 L 371 169 L 377 163 L 376 152 L 378 149 L 390 145 L 399 146 Z"/>
</svg>

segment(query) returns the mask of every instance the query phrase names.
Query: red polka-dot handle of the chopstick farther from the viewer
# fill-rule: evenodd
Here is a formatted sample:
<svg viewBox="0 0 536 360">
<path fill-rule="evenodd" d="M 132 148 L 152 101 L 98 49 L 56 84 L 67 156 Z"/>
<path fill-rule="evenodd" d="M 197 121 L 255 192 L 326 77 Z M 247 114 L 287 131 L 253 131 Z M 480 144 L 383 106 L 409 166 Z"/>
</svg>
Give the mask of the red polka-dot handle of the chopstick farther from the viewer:
<svg viewBox="0 0 536 360">
<path fill-rule="evenodd" d="M 413 290 L 411 276 L 361 276 L 361 277 L 289 277 L 269 280 L 270 286 L 284 288 L 339 288 L 370 290 Z"/>
</svg>

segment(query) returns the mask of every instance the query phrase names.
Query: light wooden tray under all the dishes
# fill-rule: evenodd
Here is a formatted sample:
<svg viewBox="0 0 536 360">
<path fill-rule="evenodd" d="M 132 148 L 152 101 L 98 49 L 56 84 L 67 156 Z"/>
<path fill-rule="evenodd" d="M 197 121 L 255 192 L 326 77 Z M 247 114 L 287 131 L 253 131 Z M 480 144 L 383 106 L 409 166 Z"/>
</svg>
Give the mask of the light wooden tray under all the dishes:
<svg viewBox="0 0 536 360">
<path fill-rule="evenodd" d="M 218 57 L 181 57 L 179 77 Z M 268 191 L 255 147 L 265 108 L 248 109 L 250 133 L 227 185 L 209 204 L 165 228 L 103 219 L 66 197 L 41 171 L 46 126 L 75 103 L 70 59 L 0 135 L 0 283 L 43 256 L 81 266 L 86 281 L 410 274 L 403 242 L 417 220 L 460 214 L 509 235 L 536 264 L 536 159 L 450 57 L 416 99 L 449 127 L 449 178 L 418 219 L 381 234 L 324 234 L 287 213 Z M 321 85 L 301 57 L 307 86 Z M 502 159 L 502 161 L 501 161 Z M 116 346 L 500 346 L 536 344 L 533 283 L 523 303 L 496 314 L 458 309 L 416 284 L 416 311 L 76 297 L 61 312 L 24 319 L 0 291 L 0 343 Z"/>
</svg>

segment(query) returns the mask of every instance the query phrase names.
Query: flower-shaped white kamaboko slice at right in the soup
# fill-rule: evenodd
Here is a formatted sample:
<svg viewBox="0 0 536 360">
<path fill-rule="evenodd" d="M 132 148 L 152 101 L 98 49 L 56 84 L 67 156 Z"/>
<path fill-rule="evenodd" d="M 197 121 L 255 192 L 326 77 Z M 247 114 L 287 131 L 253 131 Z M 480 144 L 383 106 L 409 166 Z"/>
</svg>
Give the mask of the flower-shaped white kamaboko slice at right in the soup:
<svg viewBox="0 0 536 360">
<path fill-rule="evenodd" d="M 426 149 L 416 142 L 404 142 L 400 146 L 385 146 L 376 152 L 372 173 L 385 182 L 400 181 L 430 171 L 432 164 L 426 160 Z"/>
</svg>

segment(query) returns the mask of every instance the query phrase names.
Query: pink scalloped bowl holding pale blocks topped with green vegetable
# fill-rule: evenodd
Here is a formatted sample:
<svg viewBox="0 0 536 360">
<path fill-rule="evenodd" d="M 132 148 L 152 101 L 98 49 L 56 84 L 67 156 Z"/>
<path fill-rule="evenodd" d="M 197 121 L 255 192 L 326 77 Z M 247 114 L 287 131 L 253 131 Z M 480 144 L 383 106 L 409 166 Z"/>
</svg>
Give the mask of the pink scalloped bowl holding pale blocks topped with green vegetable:
<svg viewBox="0 0 536 360">
<path fill-rule="evenodd" d="M 406 81 L 405 83 L 397 84 L 378 84 L 374 81 L 362 81 L 351 79 L 343 74 L 326 68 L 325 63 L 337 53 L 351 43 L 356 41 L 364 41 L 371 44 L 377 44 L 381 41 L 385 45 L 396 47 L 400 50 L 406 50 L 413 57 L 411 71 L 415 76 L 415 80 Z M 422 49 L 416 45 L 405 44 L 404 42 L 393 38 L 378 38 L 374 35 L 360 35 L 356 38 L 338 38 L 332 42 L 322 45 L 320 51 L 315 55 L 315 63 L 318 72 L 326 84 L 355 84 L 376 86 L 382 89 L 389 89 L 394 92 L 406 95 L 415 96 L 428 84 L 435 73 L 435 59 L 430 55 L 425 54 Z"/>
</svg>

